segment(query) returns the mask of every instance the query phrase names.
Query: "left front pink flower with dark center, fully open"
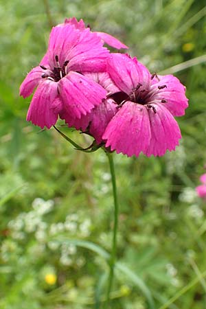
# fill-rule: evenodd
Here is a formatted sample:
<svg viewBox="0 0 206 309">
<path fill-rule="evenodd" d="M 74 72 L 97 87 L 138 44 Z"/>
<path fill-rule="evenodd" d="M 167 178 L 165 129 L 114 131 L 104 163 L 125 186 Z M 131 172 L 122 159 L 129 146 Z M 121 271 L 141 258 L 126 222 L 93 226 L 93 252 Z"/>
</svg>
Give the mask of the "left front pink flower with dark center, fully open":
<svg viewBox="0 0 206 309">
<path fill-rule="evenodd" d="M 53 27 L 47 54 L 20 87 L 20 95 L 26 98 L 38 86 L 27 121 L 50 128 L 59 114 L 79 119 L 98 106 L 106 90 L 82 73 L 105 71 L 108 53 L 89 28 L 78 30 L 70 24 Z"/>
</svg>

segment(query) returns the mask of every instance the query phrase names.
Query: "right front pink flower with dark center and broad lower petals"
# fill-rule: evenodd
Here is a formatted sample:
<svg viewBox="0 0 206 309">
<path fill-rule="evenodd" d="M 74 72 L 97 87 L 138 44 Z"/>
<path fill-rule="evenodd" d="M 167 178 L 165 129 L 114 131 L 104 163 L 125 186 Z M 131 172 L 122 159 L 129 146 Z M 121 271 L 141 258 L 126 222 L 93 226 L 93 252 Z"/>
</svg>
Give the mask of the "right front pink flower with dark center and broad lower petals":
<svg viewBox="0 0 206 309">
<path fill-rule="evenodd" d="M 108 73 L 126 98 L 102 138 L 106 147 L 128 157 L 140 152 L 161 156 L 179 145 L 181 132 L 173 116 L 187 108 L 185 87 L 172 75 L 151 75 L 136 58 L 113 54 Z"/>
</svg>

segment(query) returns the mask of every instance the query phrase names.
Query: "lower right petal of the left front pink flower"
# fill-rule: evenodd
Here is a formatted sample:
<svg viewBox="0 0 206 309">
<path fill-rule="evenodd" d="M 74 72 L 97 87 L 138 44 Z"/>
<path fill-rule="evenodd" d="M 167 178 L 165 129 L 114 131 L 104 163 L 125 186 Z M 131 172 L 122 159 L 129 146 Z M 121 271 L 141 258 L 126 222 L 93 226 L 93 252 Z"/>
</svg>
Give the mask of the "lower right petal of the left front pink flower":
<svg viewBox="0 0 206 309">
<path fill-rule="evenodd" d="M 70 71 L 59 81 L 60 98 L 71 118 L 86 115 L 106 97 L 106 90 L 80 73 Z"/>
</svg>

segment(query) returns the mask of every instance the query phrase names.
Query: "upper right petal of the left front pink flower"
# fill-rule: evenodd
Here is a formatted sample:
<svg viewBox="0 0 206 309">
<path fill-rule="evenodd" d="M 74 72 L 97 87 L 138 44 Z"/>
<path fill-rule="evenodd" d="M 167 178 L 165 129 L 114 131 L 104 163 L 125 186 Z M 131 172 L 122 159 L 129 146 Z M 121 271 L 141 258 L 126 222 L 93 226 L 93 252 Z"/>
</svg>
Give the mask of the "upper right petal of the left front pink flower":
<svg viewBox="0 0 206 309">
<path fill-rule="evenodd" d="M 80 72 L 106 71 L 108 49 L 102 47 L 100 38 L 89 28 L 80 32 L 80 38 L 72 49 L 67 49 L 68 69 Z"/>
</svg>

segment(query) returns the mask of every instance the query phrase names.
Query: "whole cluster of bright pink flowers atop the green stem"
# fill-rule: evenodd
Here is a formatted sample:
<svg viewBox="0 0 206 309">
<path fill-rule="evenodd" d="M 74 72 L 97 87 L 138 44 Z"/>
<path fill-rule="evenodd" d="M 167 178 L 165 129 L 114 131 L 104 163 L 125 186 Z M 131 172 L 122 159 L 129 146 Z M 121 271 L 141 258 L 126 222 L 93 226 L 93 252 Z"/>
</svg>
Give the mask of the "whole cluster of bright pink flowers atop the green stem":
<svg viewBox="0 0 206 309">
<path fill-rule="evenodd" d="M 137 58 L 110 53 L 104 43 L 128 48 L 75 18 L 53 27 L 45 56 L 20 87 L 23 98 L 37 87 L 27 121 L 51 128 L 60 117 L 128 157 L 174 150 L 181 139 L 174 116 L 188 106 L 185 87 L 172 75 L 151 74 Z"/>
</svg>

